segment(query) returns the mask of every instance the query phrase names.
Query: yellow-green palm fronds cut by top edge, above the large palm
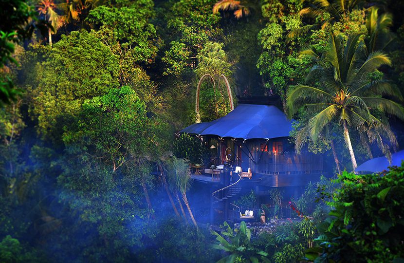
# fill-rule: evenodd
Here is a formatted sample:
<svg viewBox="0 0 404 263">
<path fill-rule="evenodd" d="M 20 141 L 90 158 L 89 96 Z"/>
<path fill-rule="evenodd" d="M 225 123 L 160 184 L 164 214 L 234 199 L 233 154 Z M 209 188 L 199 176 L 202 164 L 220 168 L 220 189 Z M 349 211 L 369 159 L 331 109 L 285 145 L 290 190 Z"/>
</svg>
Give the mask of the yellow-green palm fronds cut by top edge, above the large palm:
<svg viewBox="0 0 404 263">
<path fill-rule="evenodd" d="M 312 29 L 324 29 L 346 17 L 351 10 L 359 5 L 361 0 L 309 0 L 311 6 L 300 10 L 299 15 L 307 18 L 317 18 L 323 16 L 320 22 L 302 26 L 291 31 L 287 37 L 294 38 L 302 36 Z"/>
</svg>

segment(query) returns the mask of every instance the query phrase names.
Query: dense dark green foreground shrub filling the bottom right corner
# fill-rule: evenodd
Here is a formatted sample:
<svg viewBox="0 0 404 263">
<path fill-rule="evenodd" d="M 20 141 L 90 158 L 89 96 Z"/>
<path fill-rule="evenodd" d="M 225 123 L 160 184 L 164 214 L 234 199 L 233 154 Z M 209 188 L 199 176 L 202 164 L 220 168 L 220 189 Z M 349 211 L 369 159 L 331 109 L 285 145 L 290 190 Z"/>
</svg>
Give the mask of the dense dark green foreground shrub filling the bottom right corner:
<svg viewBox="0 0 404 263">
<path fill-rule="evenodd" d="M 315 262 L 399 262 L 404 260 L 404 164 L 384 173 L 343 172 L 329 217 L 317 226 Z M 318 254 L 320 253 L 320 255 Z"/>
</svg>

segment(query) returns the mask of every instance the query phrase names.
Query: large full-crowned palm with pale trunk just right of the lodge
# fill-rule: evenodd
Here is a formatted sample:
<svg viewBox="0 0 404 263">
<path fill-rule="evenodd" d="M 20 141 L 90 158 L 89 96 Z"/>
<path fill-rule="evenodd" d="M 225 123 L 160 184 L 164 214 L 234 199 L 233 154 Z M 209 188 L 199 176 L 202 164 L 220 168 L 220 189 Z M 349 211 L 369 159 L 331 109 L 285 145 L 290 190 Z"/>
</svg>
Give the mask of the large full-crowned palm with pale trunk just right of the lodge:
<svg viewBox="0 0 404 263">
<path fill-rule="evenodd" d="M 323 55 L 318 54 L 313 47 L 302 51 L 301 54 L 317 61 L 307 80 L 318 75 L 320 86 L 297 84 L 290 87 L 287 95 L 290 116 L 301 107 L 314 114 L 308 123 L 313 141 L 333 122 L 343 127 L 353 169 L 356 169 L 357 164 L 349 127 L 385 125 L 375 113 L 404 119 L 403 106 L 382 97 L 387 95 L 402 101 L 400 91 L 384 79 L 370 80 L 368 77 L 380 66 L 390 65 L 390 59 L 380 51 L 366 55 L 360 37 L 360 34 L 351 35 L 344 43 L 341 36 L 330 35 L 327 51 Z"/>
</svg>

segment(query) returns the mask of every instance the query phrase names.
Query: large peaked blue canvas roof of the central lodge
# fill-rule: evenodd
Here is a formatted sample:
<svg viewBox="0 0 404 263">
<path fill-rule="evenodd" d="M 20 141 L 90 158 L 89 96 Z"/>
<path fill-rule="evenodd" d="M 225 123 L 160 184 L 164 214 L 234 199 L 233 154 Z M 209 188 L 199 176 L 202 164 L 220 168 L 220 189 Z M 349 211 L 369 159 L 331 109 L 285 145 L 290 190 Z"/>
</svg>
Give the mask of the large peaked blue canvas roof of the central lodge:
<svg viewBox="0 0 404 263">
<path fill-rule="evenodd" d="M 240 104 L 224 117 L 193 124 L 180 132 L 246 140 L 271 139 L 289 136 L 292 121 L 272 105 Z"/>
</svg>

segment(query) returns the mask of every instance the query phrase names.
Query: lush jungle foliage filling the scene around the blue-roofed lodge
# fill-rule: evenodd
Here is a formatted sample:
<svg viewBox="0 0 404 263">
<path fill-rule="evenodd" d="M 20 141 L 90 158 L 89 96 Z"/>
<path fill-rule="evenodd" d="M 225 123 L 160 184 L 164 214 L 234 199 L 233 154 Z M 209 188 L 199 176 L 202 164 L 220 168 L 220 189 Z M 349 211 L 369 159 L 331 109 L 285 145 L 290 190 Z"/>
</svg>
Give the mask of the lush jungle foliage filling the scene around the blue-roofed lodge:
<svg viewBox="0 0 404 263">
<path fill-rule="evenodd" d="M 279 96 L 296 150 L 328 155 L 330 174 L 391 159 L 398 2 L 1 0 L 0 262 L 400 262 L 402 168 L 271 189 L 267 218 L 292 222 L 212 235 L 189 176 L 209 152 L 177 135 L 202 75 L 216 85 L 202 82 L 201 120 L 229 112 L 225 75 L 234 98 Z"/>
</svg>

